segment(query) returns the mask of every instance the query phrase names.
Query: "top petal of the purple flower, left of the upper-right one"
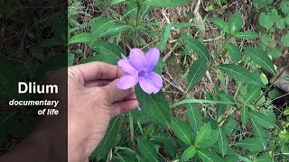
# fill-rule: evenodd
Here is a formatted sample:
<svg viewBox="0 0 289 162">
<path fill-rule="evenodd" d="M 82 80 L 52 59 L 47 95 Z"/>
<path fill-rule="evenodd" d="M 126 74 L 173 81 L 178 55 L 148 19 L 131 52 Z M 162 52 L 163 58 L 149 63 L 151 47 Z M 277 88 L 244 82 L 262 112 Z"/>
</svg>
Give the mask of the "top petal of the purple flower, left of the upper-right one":
<svg viewBox="0 0 289 162">
<path fill-rule="evenodd" d="M 141 49 L 131 49 L 129 52 L 129 61 L 138 70 L 142 70 L 146 66 L 144 52 Z"/>
</svg>

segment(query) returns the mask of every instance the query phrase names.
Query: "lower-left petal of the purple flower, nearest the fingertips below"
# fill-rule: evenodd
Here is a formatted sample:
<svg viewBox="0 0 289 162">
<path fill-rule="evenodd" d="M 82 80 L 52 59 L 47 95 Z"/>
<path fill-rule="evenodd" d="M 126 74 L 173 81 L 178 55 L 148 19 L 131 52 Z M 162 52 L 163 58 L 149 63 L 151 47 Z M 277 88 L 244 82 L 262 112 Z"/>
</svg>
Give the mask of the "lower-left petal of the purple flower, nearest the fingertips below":
<svg viewBox="0 0 289 162">
<path fill-rule="evenodd" d="M 125 75 L 119 78 L 119 80 L 117 81 L 117 87 L 119 89 L 128 89 L 130 87 L 135 86 L 137 82 L 138 82 L 137 76 Z"/>
</svg>

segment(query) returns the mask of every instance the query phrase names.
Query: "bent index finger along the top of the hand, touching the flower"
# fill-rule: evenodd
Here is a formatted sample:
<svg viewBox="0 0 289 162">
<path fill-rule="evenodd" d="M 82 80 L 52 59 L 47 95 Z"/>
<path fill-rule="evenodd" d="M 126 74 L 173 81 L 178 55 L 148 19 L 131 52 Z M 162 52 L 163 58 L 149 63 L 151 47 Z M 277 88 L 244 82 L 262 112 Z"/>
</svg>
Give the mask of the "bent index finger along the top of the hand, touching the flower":
<svg viewBox="0 0 289 162">
<path fill-rule="evenodd" d="M 126 74 L 120 67 L 98 61 L 69 67 L 69 70 L 78 78 L 83 77 L 84 82 L 96 79 L 115 80 Z"/>
</svg>

